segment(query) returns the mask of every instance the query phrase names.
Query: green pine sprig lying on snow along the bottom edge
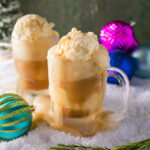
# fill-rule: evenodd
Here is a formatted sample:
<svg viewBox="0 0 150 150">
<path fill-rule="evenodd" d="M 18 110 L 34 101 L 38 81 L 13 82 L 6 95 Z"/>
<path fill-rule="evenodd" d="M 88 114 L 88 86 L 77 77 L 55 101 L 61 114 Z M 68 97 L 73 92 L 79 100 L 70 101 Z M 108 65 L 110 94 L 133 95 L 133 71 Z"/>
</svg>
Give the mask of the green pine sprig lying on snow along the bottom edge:
<svg viewBox="0 0 150 150">
<path fill-rule="evenodd" d="M 128 145 L 116 146 L 112 149 L 84 145 L 58 144 L 56 147 L 50 147 L 50 150 L 145 150 L 146 148 L 150 148 L 150 139 Z"/>
</svg>

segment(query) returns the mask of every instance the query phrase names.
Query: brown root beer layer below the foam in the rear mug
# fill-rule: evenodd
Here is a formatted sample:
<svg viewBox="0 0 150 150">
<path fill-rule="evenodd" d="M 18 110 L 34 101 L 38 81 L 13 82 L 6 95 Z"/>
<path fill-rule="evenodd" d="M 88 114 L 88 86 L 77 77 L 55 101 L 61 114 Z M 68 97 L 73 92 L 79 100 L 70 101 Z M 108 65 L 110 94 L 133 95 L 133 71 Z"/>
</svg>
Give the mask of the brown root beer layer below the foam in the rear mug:
<svg viewBox="0 0 150 150">
<path fill-rule="evenodd" d="M 27 90 L 43 90 L 48 88 L 47 60 L 26 61 L 15 58 L 14 62 L 21 88 Z"/>
</svg>

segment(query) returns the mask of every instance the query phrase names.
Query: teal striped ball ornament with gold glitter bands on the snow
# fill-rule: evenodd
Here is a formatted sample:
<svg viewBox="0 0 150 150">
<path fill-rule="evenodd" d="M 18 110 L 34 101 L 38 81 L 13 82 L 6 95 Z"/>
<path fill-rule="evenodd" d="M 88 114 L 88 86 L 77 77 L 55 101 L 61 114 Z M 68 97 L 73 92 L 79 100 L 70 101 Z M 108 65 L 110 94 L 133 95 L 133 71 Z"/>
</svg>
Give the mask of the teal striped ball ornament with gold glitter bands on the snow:
<svg viewBox="0 0 150 150">
<path fill-rule="evenodd" d="M 31 124 L 31 107 L 22 97 L 12 93 L 0 95 L 0 140 L 20 137 Z"/>
</svg>

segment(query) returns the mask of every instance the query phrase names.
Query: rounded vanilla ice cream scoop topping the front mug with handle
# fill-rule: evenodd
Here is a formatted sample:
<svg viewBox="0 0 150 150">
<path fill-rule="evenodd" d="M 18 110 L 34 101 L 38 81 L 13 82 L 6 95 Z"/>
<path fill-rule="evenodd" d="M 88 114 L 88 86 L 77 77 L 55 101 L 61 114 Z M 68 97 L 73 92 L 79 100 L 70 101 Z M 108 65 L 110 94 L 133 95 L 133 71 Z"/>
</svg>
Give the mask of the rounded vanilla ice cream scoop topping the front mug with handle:
<svg viewBox="0 0 150 150">
<path fill-rule="evenodd" d="M 97 36 L 93 32 L 82 33 L 76 28 L 63 36 L 57 53 L 69 60 L 90 60 L 93 53 L 99 49 Z"/>
</svg>

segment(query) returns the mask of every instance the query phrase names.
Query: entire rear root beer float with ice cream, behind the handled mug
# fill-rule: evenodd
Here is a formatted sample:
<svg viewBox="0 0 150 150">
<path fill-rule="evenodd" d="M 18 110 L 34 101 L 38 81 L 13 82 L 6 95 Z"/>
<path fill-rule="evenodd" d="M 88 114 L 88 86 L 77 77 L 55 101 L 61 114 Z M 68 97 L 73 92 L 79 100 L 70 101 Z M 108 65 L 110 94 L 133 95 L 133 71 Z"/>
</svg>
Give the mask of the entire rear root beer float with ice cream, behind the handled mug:
<svg viewBox="0 0 150 150">
<path fill-rule="evenodd" d="M 19 86 L 26 90 L 48 88 L 47 52 L 57 44 L 58 32 L 54 23 L 29 14 L 19 18 L 12 33 L 14 64 Z"/>
</svg>

